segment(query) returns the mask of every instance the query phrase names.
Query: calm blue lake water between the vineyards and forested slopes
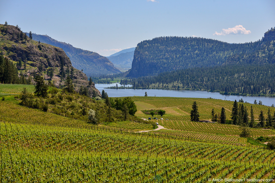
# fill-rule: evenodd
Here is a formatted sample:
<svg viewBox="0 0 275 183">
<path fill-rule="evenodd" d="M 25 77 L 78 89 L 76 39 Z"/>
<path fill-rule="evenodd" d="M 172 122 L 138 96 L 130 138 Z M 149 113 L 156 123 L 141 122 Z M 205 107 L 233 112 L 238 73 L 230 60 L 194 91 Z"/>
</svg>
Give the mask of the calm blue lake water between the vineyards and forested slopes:
<svg viewBox="0 0 275 183">
<path fill-rule="evenodd" d="M 207 91 L 195 91 L 195 90 L 171 90 L 171 89 L 106 89 L 105 87 L 111 86 L 123 86 L 119 83 L 112 84 L 95 84 L 95 87 L 102 92 L 104 89 L 109 97 L 127 97 L 127 96 L 144 96 L 147 92 L 148 96 L 157 97 L 191 97 L 191 98 L 215 98 L 222 100 L 231 100 L 237 102 L 242 98 L 243 101 L 254 104 L 254 100 L 257 102 L 262 101 L 263 105 L 271 106 L 275 105 L 275 97 L 261 97 L 261 96 L 236 96 L 236 95 L 221 95 L 219 92 L 207 92 Z M 131 85 L 125 85 L 131 86 Z"/>
</svg>

